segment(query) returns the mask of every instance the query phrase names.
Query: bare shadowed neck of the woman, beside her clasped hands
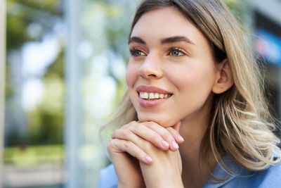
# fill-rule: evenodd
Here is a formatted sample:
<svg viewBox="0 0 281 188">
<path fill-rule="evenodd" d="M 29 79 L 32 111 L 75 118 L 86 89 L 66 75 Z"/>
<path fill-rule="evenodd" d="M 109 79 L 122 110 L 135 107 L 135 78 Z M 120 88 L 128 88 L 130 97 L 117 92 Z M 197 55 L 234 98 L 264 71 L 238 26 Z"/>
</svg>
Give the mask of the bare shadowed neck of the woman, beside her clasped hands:
<svg viewBox="0 0 281 188">
<path fill-rule="evenodd" d="M 210 110 L 210 108 L 201 109 L 200 113 L 192 115 L 192 118 L 182 120 L 180 133 L 185 142 L 181 144 L 180 152 L 183 163 L 184 187 L 203 187 L 209 177 L 208 173 L 203 173 L 200 170 L 199 157 L 201 142 L 207 125 L 209 125 Z M 214 168 L 216 160 L 213 155 L 208 156 L 210 157 L 206 158 L 207 163 L 211 165 L 211 168 Z"/>
</svg>

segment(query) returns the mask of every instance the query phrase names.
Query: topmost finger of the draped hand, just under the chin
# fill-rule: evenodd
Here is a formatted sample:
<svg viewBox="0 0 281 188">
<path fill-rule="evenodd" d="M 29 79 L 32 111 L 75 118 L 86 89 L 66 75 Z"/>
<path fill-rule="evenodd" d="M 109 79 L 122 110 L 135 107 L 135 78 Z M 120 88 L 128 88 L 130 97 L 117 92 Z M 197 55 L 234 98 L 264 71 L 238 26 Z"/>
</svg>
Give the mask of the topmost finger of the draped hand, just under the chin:
<svg viewBox="0 0 281 188">
<path fill-rule="evenodd" d="M 169 150 L 171 151 L 177 151 L 178 150 L 178 144 L 176 143 L 176 139 L 174 138 L 173 134 L 169 132 L 166 128 L 162 127 L 161 125 L 155 123 L 155 122 L 145 122 L 143 123 L 147 127 L 149 127 L 151 130 L 154 130 L 157 132 L 157 134 L 161 135 L 161 137 L 169 143 Z"/>
</svg>

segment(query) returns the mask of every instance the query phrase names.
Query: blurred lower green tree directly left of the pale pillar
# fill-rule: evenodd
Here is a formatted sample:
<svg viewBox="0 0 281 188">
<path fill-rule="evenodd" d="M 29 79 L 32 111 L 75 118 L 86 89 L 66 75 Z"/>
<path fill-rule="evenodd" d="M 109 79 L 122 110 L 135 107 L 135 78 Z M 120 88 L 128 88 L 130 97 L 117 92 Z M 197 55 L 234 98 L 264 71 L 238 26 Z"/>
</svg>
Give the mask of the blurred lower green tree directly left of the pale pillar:
<svg viewBox="0 0 281 188">
<path fill-rule="evenodd" d="M 33 111 L 27 112 L 32 144 L 63 144 L 65 109 L 63 61 L 62 50 L 44 74 L 44 96 L 41 102 Z"/>
</svg>

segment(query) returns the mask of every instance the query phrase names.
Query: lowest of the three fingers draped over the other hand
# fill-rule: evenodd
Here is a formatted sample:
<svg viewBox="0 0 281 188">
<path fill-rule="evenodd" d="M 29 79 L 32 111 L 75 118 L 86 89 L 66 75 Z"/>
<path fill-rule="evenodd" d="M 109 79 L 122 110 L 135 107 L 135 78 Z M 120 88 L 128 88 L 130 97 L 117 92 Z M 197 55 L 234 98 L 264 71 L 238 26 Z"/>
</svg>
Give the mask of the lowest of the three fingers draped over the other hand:
<svg viewBox="0 0 281 188">
<path fill-rule="evenodd" d="M 153 162 L 152 158 L 148 156 L 145 151 L 136 146 L 131 141 L 127 141 L 124 139 L 113 139 L 108 145 L 107 150 L 109 153 L 118 153 L 118 152 L 126 152 L 131 156 L 137 158 L 139 161 L 145 164 L 151 164 Z"/>
</svg>

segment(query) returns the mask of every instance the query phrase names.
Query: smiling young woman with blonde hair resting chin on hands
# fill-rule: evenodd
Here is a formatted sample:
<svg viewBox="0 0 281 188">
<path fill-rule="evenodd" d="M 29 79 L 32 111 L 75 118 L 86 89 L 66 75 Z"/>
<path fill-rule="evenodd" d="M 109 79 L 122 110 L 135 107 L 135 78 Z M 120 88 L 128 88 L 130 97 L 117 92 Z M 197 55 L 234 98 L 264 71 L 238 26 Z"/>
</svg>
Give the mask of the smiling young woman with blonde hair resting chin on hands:
<svg viewBox="0 0 281 188">
<path fill-rule="evenodd" d="M 259 67 L 221 0 L 143 1 L 129 49 L 98 187 L 281 187 Z"/>
</svg>

